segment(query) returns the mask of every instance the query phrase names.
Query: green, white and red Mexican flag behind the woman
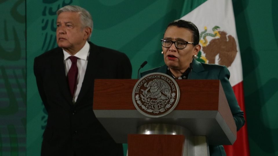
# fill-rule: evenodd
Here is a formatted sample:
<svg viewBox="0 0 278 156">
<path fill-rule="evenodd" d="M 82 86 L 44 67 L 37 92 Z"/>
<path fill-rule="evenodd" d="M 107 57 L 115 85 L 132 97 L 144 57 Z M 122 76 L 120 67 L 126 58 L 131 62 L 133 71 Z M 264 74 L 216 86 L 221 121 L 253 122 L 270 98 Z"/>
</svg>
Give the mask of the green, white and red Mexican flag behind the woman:
<svg viewBox="0 0 278 156">
<path fill-rule="evenodd" d="M 232 0 L 186 0 L 181 19 L 193 22 L 199 29 L 202 48 L 197 60 L 228 67 L 230 83 L 239 106 L 245 112 L 242 64 Z M 228 156 L 250 155 L 246 123 L 237 132 L 235 143 L 224 148 Z"/>
</svg>

